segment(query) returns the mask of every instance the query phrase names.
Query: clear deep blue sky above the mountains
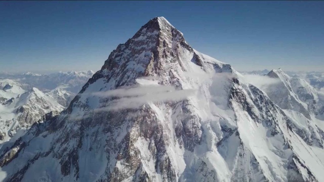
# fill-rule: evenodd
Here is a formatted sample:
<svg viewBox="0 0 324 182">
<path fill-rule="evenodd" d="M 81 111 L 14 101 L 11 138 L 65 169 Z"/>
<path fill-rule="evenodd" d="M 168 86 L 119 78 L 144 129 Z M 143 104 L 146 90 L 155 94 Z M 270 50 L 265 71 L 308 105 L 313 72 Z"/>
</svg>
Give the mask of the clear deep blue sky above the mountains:
<svg viewBox="0 0 324 182">
<path fill-rule="evenodd" d="M 236 70 L 324 71 L 321 1 L 2 1 L 0 71 L 96 71 L 156 16 Z"/>
</svg>

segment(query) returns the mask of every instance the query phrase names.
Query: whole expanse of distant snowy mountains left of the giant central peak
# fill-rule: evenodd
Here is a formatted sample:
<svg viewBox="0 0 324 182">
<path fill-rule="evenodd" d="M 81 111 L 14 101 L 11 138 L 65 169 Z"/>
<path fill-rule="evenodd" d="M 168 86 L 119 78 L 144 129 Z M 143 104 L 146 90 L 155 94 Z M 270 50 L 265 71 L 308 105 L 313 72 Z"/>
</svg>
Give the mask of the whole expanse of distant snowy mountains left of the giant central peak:
<svg viewBox="0 0 324 182">
<path fill-rule="evenodd" d="M 0 143 L 19 137 L 32 124 L 41 122 L 46 114 L 58 115 L 93 74 L 91 70 L 50 75 L 2 73 Z"/>
</svg>

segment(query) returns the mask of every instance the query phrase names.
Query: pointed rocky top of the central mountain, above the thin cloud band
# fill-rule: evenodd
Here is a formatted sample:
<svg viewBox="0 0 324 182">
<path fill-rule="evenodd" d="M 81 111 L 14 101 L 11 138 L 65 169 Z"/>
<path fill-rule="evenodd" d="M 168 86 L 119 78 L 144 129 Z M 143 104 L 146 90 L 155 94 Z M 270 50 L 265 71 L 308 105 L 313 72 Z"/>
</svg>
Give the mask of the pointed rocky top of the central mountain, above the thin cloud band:
<svg viewBox="0 0 324 182">
<path fill-rule="evenodd" d="M 170 77 L 182 77 L 182 72 L 211 72 L 234 69 L 210 56 L 199 53 L 188 45 L 183 34 L 165 18 L 155 17 L 142 26 L 125 44 L 120 44 L 111 52 L 101 70 L 80 91 L 99 79 L 110 90 L 120 86 L 133 85 L 139 77 L 165 77 L 160 84 L 170 84 Z M 180 74 L 180 75 L 179 75 Z M 161 78 L 163 78 L 161 77 Z M 177 86 L 183 83 L 178 79 Z"/>
</svg>

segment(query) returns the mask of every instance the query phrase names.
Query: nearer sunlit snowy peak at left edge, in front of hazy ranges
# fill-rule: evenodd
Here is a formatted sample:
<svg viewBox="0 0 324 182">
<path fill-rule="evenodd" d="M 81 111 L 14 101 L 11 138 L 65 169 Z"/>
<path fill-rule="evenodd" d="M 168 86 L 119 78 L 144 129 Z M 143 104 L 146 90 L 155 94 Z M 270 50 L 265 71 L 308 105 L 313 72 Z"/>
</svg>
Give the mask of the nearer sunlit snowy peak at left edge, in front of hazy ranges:
<svg viewBox="0 0 324 182">
<path fill-rule="evenodd" d="M 7 79 L 0 81 L 0 86 L 0 98 L 3 98 L 0 103 L 1 143 L 9 140 L 20 129 L 28 129 L 45 114 L 53 112 L 57 115 L 64 108 L 37 88 L 24 90 L 30 88 L 26 84 Z"/>
</svg>

